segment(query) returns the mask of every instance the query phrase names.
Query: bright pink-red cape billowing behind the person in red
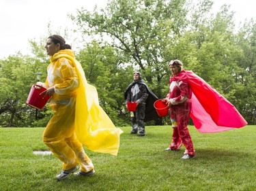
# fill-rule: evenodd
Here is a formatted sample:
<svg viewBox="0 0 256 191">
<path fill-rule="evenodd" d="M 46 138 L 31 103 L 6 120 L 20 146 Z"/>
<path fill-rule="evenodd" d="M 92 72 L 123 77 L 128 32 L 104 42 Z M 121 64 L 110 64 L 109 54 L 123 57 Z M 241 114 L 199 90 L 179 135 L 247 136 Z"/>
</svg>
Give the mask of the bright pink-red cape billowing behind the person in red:
<svg viewBox="0 0 256 191">
<path fill-rule="evenodd" d="M 182 71 L 178 79 L 186 79 L 193 94 L 190 118 L 200 133 L 216 133 L 246 126 L 247 122 L 225 97 L 193 71 Z"/>
</svg>

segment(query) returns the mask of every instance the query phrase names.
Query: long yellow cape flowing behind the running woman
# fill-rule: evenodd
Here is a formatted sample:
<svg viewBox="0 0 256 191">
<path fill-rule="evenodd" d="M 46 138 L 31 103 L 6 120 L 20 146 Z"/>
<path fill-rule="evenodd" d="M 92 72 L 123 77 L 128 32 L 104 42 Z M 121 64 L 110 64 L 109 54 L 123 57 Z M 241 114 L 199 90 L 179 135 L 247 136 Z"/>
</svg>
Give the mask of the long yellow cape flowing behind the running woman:
<svg viewBox="0 0 256 191">
<path fill-rule="evenodd" d="M 85 72 L 79 61 L 74 58 L 71 50 L 57 52 L 51 60 L 68 58 L 74 63 L 79 77 L 79 88 L 76 90 L 76 136 L 89 150 L 117 156 L 119 137 L 123 131 L 106 115 L 98 102 L 98 92 L 87 83 Z"/>
</svg>

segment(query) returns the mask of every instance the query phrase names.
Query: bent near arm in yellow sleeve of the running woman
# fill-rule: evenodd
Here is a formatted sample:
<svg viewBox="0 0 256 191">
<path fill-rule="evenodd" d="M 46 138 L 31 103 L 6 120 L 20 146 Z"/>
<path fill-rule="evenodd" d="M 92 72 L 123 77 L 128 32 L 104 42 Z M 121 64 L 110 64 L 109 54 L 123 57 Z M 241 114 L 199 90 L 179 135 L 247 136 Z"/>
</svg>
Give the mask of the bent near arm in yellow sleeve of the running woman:
<svg viewBox="0 0 256 191">
<path fill-rule="evenodd" d="M 79 78 L 75 67 L 72 67 L 71 60 L 68 60 L 67 58 L 60 58 L 59 72 L 61 73 L 61 76 L 55 77 L 62 78 L 62 80 L 53 86 L 55 93 L 69 94 L 79 87 Z"/>
</svg>

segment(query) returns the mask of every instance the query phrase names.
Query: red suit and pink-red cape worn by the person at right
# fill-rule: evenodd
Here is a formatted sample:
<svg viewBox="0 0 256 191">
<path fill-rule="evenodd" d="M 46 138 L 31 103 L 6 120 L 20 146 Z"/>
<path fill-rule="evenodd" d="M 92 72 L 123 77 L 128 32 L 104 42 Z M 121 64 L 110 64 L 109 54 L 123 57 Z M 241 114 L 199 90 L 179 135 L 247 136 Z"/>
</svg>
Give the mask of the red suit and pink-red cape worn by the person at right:
<svg viewBox="0 0 256 191">
<path fill-rule="evenodd" d="M 236 107 L 193 71 L 182 70 L 170 78 L 167 99 L 171 100 L 172 150 L 184 143 L 186 153 L 195 155 L 187 128 L 189 116 L 200 133 L 228 131 L 247 124 Z"/>
</svg>

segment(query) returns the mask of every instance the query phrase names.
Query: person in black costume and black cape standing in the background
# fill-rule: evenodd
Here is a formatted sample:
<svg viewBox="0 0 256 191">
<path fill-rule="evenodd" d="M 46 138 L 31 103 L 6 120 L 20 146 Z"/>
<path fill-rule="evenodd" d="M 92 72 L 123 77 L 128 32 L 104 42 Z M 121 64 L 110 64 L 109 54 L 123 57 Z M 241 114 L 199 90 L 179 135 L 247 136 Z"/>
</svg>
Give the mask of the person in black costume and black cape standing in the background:
<svg viewBox="0 0 256 191">
<path fill-rule="evenodd" d="M 154 102 L 158 100 L 158 97 L 141 79 L 141 73 L 134 72 L 133 79 L 134 81 L 124 92 L 126 103 L 127 101 L 137 102 L 136 111 L 130 112 L 132 122 L 132 131 L 130 133 L 137 134 L 139 131 L 139 136 L 145 136 L 144 122 L 158 118 L 156 109 L 154 109 Z"/>
</svg>

